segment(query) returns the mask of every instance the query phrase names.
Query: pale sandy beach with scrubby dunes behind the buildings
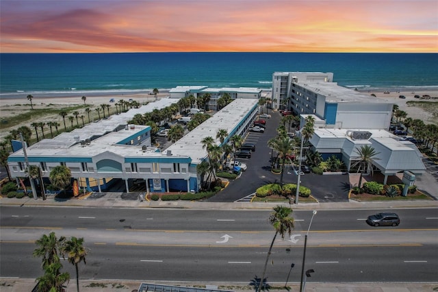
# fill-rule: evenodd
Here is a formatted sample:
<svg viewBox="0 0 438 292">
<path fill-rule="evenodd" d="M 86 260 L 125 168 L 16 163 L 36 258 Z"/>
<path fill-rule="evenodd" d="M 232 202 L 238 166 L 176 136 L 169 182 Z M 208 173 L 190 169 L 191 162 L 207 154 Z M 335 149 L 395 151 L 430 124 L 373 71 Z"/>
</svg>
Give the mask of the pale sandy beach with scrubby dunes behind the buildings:
<svg viewBox="0 0 438 292">
<path fill-rule="evenodd" d="M 408 117 L 411 117 L 411 119 L 421 119 L 424 121 L 424 123 L 435 123 L 438 124 L 438 104 L 436 107 L 427 107 L 422 108 L 419 106 L 409 106 L 407 104 L 407 101 L 430 101 L 430 102 L 437 102 L 437 99 L 417 99 L 414 98 L 414 95 L 430 95 L 430 97 L 438 97 L 438 89 L 437 90 L 421 90 L 417 92 L 407 92 L 407 91 L 393 91 L 390 93 L 385 93 L 384 90 L 363 90 L 361 91 L 364 95 L 376 95 L 376 97 L 381 99 L 387 99 L 388 101 L 394 102 L 394 104 L 398 105 L 398 108 L 400 110 L 404 110 L 407 112 Z M 400 95 L 404 95 L 406 98 L 401 99 L 399 98 Z M 162 91 L 157 95 L 158 99 L 165 98 L 168 96 L 168 91 Z M 84 115 L 87 117 L 86 112 L 84 112 L 86 106 L 88 106 L 92 110 L 92 120 L 97 119 L 97 112 L 94 110 L 95 108 L 100 108 L 102 104 L 109 104 L 110 111 L 116 112 L 116 104 L 120 99 L 123 99 L 124 101 L 129 101 L 129 99 L 132 99 L 133 101 L 137 101 L 139 104 L 146 104 L 147 102 L 151 102 L 155 100 L 154 95 L 149 95 L 148 93 L 136 93 L 136 94 L 120 94 L 120 95 L 107 95 L 107 94 L 94 94 L 92 96 L 86 97 L 85 105 L 83 100 L 81 99 L 82 95 L 77 96 L 69 96 L 69 97 L 38 97 L 34 96 L 32 99 L 32 104 L 34 106 L 34 109 L 44 109 L 44 108 L 53 108 L 53 107 L 73 107 L 73 106 L 84 106 L 83 108 L 79 109 L 79 114 Z M 115 102 L 110 102 L 110 99 L 114 99 Z M 23 98 L 11 98 L 11 99 L 0 99 L 0 116 L 2 121 L 8 120 L 8 118 L 15 117 L 19 114 L 22 114 L 24 112 L 29 112 L 30 110 L 30 102 L 27 100 L 27 95 L 23 95 Z M 69 115 L 72 113 L 69 112 Z M 95 117 L 94 117 L 95 116 Z M 27 121 L 26 123 L 21 123 L 20 125 L 15 125 L 14 127 L 5 127 L 0 132 L 0 138 L 4 138 L 7 136 L 10 132 L 10 130 L 16 129 L 22 125 L 27 125 L 28 127 L 31 127 L 31 123 L 39 123 L 44 122 L 47 123 L 48 121 L 57 121 L 60 123 L 63 127 L 62 117 L 60 117 L 59 114 L 47 114 L 47 115 L 39 115 L 38 117 L 35 117 L 31 119 L 31 121 Z M 80 121 L 80 120 L 79 120 Z M 85 119 L 85 122 L 87 123 L 87 119 Z M 70 122 L 67 120 L 67 124 L 69 125 Z M 76 121 L 74 122 L 76 124 Z M 32 129 L 32 127 L 31 127 Z M 33 130 L 33 129 L 32 129 Z M 47 132 L 49 132 L 49 129 L 47 129 Z M 45 131 L 44 131 L 45 133 Z"/>
</svg>

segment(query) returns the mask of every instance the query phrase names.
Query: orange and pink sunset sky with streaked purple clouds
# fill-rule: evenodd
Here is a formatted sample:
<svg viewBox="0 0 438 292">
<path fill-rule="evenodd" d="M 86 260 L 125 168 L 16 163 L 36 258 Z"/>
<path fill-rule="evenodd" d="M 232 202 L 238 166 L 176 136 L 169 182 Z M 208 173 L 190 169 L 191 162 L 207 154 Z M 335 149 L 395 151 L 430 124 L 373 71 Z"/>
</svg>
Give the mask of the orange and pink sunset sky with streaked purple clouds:
<svg viewBox="0 0 438 292">
<path fill-rule="evenodd" d="M 438 0 L 0 0 L 1 52 L 438 52 Z"/>
</svg>

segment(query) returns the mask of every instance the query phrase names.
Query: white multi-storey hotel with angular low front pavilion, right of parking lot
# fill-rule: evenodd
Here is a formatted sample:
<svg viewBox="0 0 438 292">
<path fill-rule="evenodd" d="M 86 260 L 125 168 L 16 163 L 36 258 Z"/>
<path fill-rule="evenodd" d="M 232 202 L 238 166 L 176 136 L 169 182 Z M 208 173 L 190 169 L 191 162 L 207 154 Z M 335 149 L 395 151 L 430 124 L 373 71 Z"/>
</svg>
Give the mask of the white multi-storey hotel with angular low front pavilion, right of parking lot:
<svg viewBox="0 0 438 292">
<path fill-rule="evenodd" d="M 417 147 L 388 131 L 394 103 L 338 86 L 333 73 L 275 72 L 272 101 L 277 109 L 283 106 L 300 115 L 301 127 L 311 115 L 315 119 L 311 149 L 324 160 L 336 156 L 348 171 L 360 160 L 357 150 L 363 145 L 376 151 L 372 167 L 384 175 L 384 184 L 390 175 L 426 171 Z"/>
</svg>

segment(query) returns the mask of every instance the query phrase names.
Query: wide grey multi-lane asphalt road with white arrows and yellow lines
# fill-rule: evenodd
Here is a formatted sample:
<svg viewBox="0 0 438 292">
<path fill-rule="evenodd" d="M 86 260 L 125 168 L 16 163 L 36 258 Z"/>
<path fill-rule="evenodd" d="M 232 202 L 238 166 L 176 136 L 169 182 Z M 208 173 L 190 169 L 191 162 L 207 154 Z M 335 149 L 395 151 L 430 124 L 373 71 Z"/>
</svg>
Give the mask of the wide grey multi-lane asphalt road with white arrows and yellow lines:
<svg viewBox="0 0 438 292">
<path fill-rule="evenodd" d="M 438 270 L 437 209 L 394 210 L 402 223 L 374 228 L 377 210 L 331 210 L 315 215 L 308 237 L 309 282 L 432 282 Z M 250 281 L 260 276 L 274 231 L 263 210 L 140 210 L 0 207 L 0 275 L 35 278 L 34 241 L 53 231 L 83 236 L 90 249 L 83 279 Z M 294 211 L 292 237 L 279 236 L 268 281 L 299 281 L 303 237 L 311 211 Z M 73 266 L 64 263 L 74 275 Z"/>
</svg>

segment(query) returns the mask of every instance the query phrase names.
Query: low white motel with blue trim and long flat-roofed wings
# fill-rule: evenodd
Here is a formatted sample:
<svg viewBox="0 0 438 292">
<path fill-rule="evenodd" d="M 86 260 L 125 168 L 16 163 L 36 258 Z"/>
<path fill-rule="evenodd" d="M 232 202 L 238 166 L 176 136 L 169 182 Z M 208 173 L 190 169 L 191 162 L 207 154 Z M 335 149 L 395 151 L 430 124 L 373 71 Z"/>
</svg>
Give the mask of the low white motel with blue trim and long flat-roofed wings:
<svg viewBox="0 0 438 292">
<path fill-rule="evenodd" d="M 177 103 L 164 98 L 134 108 L 122 114 L 90 123 L 55 138 L 46 138 L 19 149 L 8 158 L 12 178 L 25 178 L 27 163 L 40 168 L 48 182 L 51 169 L 65 165 L 81 191 L 111 191 L 124 182 L 129 192 L 133 183 L 146 186 L 146 192 L 197 192 L 201 178 L 196 166 L 207 159 L 201 140 L 216 139 L 218 129 L 227 130 L 229 138 L 244 134 L 257 117 L 257 99 L 235 99 L 231 104 L 207 119 L 177 143 L 160 151 L 151 143 L 151 127 L 128 124 L 134 115 L 152 112 Z M 220 141 L 216 139 L 217 145 Z M 21 144 L 21 143 L 18 143 Z"/>
</svg>

